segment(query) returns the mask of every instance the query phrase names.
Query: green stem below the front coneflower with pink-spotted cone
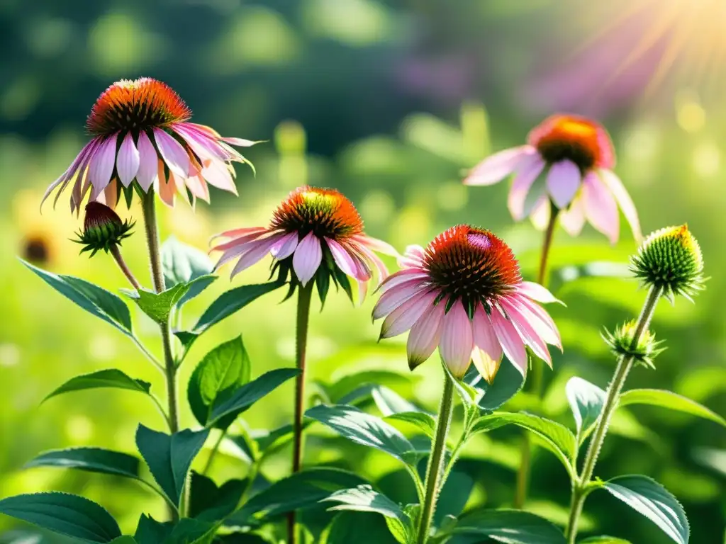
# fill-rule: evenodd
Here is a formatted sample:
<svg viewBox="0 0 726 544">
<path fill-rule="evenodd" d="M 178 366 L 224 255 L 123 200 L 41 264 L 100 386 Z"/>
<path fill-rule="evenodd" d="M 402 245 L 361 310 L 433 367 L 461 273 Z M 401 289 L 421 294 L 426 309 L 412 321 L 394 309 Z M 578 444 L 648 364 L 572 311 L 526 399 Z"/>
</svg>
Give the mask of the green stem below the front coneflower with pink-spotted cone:
<svg viewBox="0 0 726 544">
<path fill-rule="evenodd" d="M 421 517 L 418 525 L 417 544 L 425 544 L 428 533 L 431 532 L 433 513 L 436 511 L 436 500 L 441 491 L 441 473 L 444 471 L 444 451 L 446 450 L 446 437 L 454 412 L 454 382 L 448 372 L 444 372 L 444 392 L 441 395 L 439 406 L 439 420 L 436 424 L 436 437 L 431 445 L 431 455 L 428 457 L 426 468 L 426 494 L 421 507 Z"/>
</svg>

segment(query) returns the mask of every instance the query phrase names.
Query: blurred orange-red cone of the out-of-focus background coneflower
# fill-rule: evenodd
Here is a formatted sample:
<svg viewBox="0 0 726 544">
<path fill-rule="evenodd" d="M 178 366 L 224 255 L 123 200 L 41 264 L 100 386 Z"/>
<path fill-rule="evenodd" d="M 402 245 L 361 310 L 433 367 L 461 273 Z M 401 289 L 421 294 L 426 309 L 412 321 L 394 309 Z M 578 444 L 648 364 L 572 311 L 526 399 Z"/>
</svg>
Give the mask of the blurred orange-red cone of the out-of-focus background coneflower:
<svg viewBox="0 0 726 544">
<path fill-rule="evenodd" d="M 576 115 L 552 115 L 529 133 L 545 161 L 570 160 L 582 172 L 615 165 L 613 144 L 602 125 Z"/>
</svg>

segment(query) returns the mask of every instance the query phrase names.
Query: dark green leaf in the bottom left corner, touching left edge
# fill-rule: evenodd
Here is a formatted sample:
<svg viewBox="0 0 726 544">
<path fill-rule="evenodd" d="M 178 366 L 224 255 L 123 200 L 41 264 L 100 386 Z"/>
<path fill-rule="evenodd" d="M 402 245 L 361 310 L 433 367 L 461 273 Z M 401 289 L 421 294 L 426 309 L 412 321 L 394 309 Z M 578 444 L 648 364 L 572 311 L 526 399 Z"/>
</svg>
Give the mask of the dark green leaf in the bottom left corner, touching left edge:
<svg viewBox="0 0 726 544">
<path fill-rule="evenodd" d="M 32 493 L 0 500 L 0 514 L 83 542 L 109 543 L 121 536 L 105 508 L 78 495 Z"/>
</svg>

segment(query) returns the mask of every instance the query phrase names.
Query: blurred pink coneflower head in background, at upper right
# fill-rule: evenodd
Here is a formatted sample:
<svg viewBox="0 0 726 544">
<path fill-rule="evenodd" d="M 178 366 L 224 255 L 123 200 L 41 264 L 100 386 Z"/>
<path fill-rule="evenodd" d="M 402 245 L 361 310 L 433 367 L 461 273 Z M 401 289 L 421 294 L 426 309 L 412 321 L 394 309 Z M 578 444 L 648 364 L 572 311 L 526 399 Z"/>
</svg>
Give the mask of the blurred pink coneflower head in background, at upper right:
<svg viewBox="0 0 726 544">
<path fill-rule="evenodd" d="M 577 115 L 552 115 L 532 129 L 527 142 L 487 157 L 464 183 L 492 185 L 514 173 L 508 204 L 516 221 L 531 215 L 544 230 L 552 202 L 569 234 L 579 234 L 587 220 L 613 244 L 620 230 L 619 206 L 640 240 L 637 211 L 613 173 L 615 151 L 602 125 Z"/>
</svg>

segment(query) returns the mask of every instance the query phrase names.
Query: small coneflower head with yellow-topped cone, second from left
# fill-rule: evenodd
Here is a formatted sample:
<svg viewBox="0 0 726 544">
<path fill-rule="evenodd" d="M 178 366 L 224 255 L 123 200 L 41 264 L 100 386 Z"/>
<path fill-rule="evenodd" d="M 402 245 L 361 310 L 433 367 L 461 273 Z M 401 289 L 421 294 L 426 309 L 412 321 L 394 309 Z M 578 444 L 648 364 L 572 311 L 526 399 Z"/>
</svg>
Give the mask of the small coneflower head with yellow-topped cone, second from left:
<svg viewBox="0 0 726 544">
<path fill-rule="evenodd" d="M 388 276 L 386 265 L 374 251 L 398 255 L 386 242 L 364 234 L 358 210 L 343 194 L 310 186 L 291 192 L 274 211 L 269 227 L 237 228 L 218 236 L 229 241 L 212 248 L 224 252 L 217 268 L 237 259 L 232 277 L 269 253 L 277 261 L 289 260 L 303 287 L 319 269 L 330 273 L 333 281 L 340 281 L 336 272 L 342 271 L 343 278 L 358 282 L 361 298 L 374 268 L 380 279 Z"/>
</svg>

